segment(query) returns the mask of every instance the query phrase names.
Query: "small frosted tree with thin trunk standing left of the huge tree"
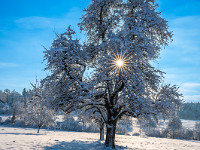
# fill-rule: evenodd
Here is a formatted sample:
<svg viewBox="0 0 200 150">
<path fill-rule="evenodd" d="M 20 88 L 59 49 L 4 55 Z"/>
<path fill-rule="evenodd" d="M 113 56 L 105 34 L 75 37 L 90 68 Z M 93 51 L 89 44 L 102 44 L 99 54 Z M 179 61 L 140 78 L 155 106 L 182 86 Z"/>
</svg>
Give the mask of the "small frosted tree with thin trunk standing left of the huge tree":
<svg viewBox="0 0 200 150">
<path fill-rule="evenodd" d="M 32 86 L 32 96 L 28 98 L 24 121 L 26 124 L 37 125 L 37 133 L 39 133 L 40 128 L 43 126 L 54 127 L 56 125 L 56 116 L 55 111 L 46 104 L 48 95 L 44 92 L 44 89 L 40 87 L 37 81 Z"/>
</svg>

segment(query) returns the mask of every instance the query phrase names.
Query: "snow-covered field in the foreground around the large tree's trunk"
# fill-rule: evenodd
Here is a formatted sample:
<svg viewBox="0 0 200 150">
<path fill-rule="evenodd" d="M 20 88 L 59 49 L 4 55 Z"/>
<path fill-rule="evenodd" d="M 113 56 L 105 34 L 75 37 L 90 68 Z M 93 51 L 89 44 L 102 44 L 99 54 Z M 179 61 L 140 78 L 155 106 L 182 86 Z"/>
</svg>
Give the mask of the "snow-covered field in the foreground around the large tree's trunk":
<svg viewBox="0 0 200 150">
<path fill-rule="evenodd" d="M 48 131 L 42 129 L 0 126 L 0 150 L 103 150 L 98 133 Z M 134 150 L 199 150 L 200 141 L 116 136 L 117 149 Z"/>
</svg>

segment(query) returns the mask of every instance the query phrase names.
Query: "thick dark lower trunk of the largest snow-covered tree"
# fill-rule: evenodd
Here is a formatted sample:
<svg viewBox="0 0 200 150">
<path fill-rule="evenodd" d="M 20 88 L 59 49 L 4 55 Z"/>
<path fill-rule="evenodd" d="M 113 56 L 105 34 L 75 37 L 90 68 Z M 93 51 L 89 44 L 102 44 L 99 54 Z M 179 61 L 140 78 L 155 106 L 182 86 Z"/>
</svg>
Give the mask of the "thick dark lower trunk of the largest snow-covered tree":
<svg viewBox="0 0 200 150">
<path fill-rule="evenodd" d="M 115 149 L 115 131 L 116 131 L 116 123 L 112 122 L 106 126 L 107 133 L 106 133 L 106 147 L 112 147 Z"/>
</svg>

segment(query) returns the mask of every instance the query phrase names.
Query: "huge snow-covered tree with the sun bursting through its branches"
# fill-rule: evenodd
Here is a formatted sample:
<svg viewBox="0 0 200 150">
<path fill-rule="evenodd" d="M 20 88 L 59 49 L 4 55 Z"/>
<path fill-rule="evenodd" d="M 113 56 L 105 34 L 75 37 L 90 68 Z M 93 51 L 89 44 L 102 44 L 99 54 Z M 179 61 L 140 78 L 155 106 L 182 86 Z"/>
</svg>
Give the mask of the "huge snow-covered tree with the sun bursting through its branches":
<svg viewBox="0 0 200 150">
<path fill-rule="evenodd" d="M 51 74 L 54 107 L 65 112 L 97 112 L 106 125 L 107 147 L 115 148 L 118 120 L 124 115 L 155 118 L 180 105 L 176 86 L 161 86 L 163 72 L 152 66 L 172 38 L 155 0 L 92 0 L 79 24 L 87 34 L 80 44 L 69 27 L 57 35 L 44 59 Z M 93 68 L 85 80 L 86 68 Z"/>
</svg>

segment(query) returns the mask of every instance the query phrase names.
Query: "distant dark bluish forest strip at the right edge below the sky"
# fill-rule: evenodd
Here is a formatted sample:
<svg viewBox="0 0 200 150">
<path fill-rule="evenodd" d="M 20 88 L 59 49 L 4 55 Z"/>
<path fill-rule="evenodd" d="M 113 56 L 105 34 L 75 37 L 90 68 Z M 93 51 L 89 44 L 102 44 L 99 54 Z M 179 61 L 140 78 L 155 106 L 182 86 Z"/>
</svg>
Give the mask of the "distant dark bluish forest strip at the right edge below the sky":
<svg viewBox="0 0 200 150">
<path fill-rule="evenodd" d="M 179 109 L 178 115 L 180 119 L 200 120 L 200 102 L 184 103 Z"/>
</svg>

